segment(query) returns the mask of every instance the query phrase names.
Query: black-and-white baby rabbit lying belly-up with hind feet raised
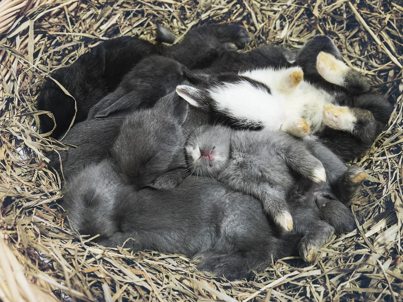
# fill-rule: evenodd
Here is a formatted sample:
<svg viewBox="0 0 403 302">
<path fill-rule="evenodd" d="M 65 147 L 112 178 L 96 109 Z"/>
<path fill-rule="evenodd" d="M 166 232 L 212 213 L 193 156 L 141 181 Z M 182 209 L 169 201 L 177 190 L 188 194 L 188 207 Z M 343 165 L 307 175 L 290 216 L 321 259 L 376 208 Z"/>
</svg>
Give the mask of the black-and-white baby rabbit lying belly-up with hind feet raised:
<svg viewBox="0 0 403 302">
<path fill-rule="evenodd" d="M 262 54 L 267 54 L 266 61 Z M 177 91 L 192 105 L 218 112 L 237 126 L 266 127 L 297 137 L 315 133 L 345 160 L 368 149 L 388 120 L 391 105 L 370 90 L 364 76 L 339 60 L 330 38 L 309 40 L 293 55 L 293 62 L 302 67 L 284 63 L 290 54 L 285 49 L 282 54 L 275 46 L 262 46 L 232 57 L 237 72 L 241 70 L 238 74 L 185 72 L 199 89 L 180 86 Z M 275 60 L 285 67 L 273 64 Z M 211 70 L 229 69 L 217 63 Z"/>
</svg>

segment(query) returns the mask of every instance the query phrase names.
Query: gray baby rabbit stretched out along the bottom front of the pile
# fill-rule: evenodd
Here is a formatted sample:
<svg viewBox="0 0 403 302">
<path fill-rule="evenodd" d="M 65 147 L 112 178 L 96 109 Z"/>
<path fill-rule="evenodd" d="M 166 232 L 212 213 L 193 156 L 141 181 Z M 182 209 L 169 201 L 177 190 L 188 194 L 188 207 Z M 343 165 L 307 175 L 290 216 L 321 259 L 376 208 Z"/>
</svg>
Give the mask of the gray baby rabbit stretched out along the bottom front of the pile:
<svg viewBox="0 0 403 302">
<path fill-rule="evenodd" d="M 212 179 L 185 178 L 174 189 L 135 188 L 110 163 L 71 178 L 63 197 L 70 227 L 107 247 L 181 253 L 197 269 L 242 278 L 293 254 L 299 235 L 275 236 L 260 203 Z"/>
</svg>

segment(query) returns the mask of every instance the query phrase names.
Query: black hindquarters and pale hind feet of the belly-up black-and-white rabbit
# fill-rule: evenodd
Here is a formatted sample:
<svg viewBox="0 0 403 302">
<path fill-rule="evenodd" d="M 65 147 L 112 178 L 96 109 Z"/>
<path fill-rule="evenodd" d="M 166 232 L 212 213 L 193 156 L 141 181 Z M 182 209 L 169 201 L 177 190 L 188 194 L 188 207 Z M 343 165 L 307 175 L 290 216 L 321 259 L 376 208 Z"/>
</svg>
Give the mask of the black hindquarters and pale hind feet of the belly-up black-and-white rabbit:
<svg viewBox="0 0 403 302">
<path fill-rule="evenodd" d="M 329 126 L 317 134 L 321 141 L 346 161 L 366 151 L 388 122 L 391 104 L 370 87 L 365 77 L 341 61 L 339 50 L 327 36 L 308 40 L 294 59 L 294 64 L 303 68 L 306 81 L 339 95 L 337 103 L 341 107 L 328 108 Z M 351 130 L 337 129 L 343 117 L 353 121 Z"/>
</svg>

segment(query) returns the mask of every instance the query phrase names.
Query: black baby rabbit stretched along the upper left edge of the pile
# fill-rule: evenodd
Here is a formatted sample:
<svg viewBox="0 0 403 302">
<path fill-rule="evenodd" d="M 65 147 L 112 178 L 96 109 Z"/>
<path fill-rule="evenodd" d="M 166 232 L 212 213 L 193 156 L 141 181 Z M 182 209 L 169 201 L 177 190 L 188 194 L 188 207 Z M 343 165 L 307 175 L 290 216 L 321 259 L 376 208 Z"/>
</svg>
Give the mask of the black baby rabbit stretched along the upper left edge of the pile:
<svg viewBox="0 0 403 302">
<path fill-rule="evenodd" d="M 187 68 L 203 68 L 222 53 L 234 52 L 233 48 L 226 47 L 229 43 L 240 47 L 248 37 L 245 29 L 237 25 L 208 25 L 192 29 L 181 43 L 174 46 L 155 46 L 135 37 L 118 37 L 94 47 L 70 66 L 55 70 L 51 77 L 76 100 L 75 122 L 80 122 L 87 118 L 94 104 L 117 88 L 123 76 L 142 58 L 160 54 Z M 37 97 L 37 109 L 54 115 L 56 128 L 52 137 L 59 137 L 69 128 L 75 114 L 74 99 L 52 79 L 42 87 Z M 41 132 L 50 132 L 54 127 L 52 119 L 44 114 L 39 119 Z"/>
</svg>

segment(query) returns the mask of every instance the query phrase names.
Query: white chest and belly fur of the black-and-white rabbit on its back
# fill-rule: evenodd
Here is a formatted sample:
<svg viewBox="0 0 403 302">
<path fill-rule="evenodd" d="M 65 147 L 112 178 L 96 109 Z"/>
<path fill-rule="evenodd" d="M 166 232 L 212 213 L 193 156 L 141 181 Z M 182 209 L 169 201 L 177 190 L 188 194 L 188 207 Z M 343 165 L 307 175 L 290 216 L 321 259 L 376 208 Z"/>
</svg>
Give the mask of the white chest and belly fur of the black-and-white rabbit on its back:
<svg viewBox="0 0 403 302">
<path fill-rule="evenodd" d="M 316 132 L 322 128 L 323 106 L 335 103 L 335 95 L 302 80 L 296 87 L 284 92 L 284 81 L 289 79 L 293 68 L 259 68 L 240 73 L 255 81 L 264 83 L 271 93 L 257 89 L 248 82 L 216 87 L 210 96 L 214 98 L 225 112 L 240 119 L 264 122 L 268 130 L 279 130 L 287 120 L 297 121 L 304 118 Z M 221 88 L 221 89 L 219 89 Z"/>
</svg>

